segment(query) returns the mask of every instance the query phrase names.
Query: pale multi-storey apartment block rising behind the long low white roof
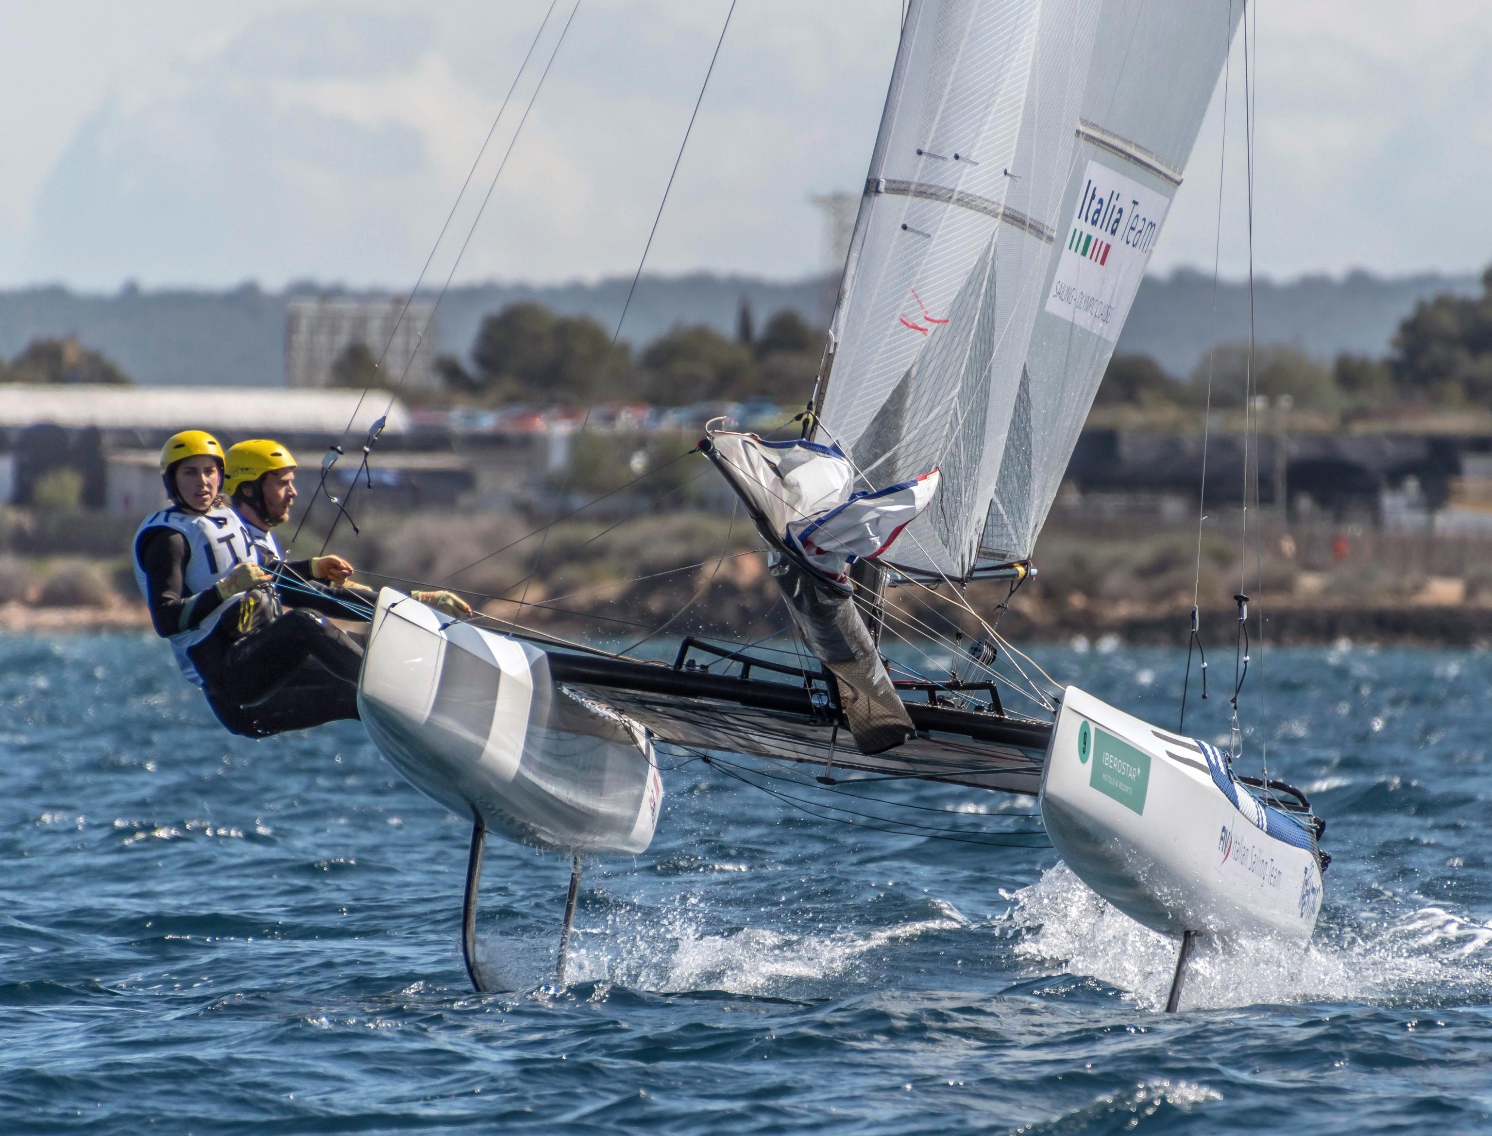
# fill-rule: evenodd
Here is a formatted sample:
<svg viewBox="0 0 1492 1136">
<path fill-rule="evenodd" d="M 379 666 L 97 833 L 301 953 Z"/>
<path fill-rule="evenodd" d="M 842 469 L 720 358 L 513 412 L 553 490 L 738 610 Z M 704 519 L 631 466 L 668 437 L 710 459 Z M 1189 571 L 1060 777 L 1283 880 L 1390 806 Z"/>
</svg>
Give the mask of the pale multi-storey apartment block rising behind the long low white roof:
<svg viewBox="0 0 1492 1136">
<path fill-rule="evenodd" d="M 383 360 L 380 385 L 431 390 L 436 385 L 434 310 L 427 300 L 413 300 L 406 309 L 398 297 L 291 300 L 285 315 L 285 385 L 330 387 L 342 352 L 361 343 L 374 360 Z"/>
</svg>

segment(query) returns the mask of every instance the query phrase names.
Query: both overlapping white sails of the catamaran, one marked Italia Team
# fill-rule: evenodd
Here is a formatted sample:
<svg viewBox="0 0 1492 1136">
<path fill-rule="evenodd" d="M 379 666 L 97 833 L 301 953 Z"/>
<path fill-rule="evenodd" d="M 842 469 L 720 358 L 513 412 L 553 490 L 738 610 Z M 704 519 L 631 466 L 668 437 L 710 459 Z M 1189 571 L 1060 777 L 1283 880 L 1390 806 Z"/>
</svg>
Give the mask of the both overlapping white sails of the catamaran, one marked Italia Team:
<svg viewBox="0 0 1492 1136">
<path fill-rule="evenodd" d="M 870 488 L 941 470 L 898 566 L 1031 555 L 1241 9 L 912 0 L 818 421 Z"/>
</svg>

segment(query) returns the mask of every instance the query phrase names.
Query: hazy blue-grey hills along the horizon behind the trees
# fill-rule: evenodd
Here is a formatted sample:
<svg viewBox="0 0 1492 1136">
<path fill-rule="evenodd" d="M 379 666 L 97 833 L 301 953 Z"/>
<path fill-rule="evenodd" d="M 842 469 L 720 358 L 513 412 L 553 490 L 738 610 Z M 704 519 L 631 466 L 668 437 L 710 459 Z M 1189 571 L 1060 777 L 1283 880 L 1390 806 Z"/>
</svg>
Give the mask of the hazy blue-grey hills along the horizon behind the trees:
<svg viewBox="0 0 1492 1136">
<path fill-rule="evenodd" d="M 537 300 L 555 310 L 588 313 L 612 327 L 628 281 L 598 284 L 486 284 L 452 288 L 437 316 L 437 349 L 466 354 L 482 316 L 513 300 Z M 1261 281 L 1255 313 L 1261 342 L 1291 343 L 1328 360 L 1338 351 L 1382 354 L 1398 321 L 1419 300 L 1438 293 L 1476 294 L 1473 276 L 1382 279 L 1352 273 L 1343 281 L 1306 276 L 1288 284 Z M 231 291 L 145 291 L 112 296 L 66 288 L 0 291 L 0 354 L 15 355 L 37 336 L 76 334 L 103 351 L 131 378 L 146 384 L 279 385 L 285 381 L 285 303 L 319 296 L 315 285 L 264 293 L 252 284 Z M 333 296 L 386 296 L 328 288 Z M 761 281 L 743 276 L 645 276 L 627 313 L 622 337 L 646 343 L 674 324 L 704 322 L 736 330 L 746 296 L 758 325 L 792 308 L 822 322 L 831 303 L 825 279 Z M 1167 370 L 1186 375 L 1212 336 L 1212 278 L 1180 270 L 1147 278 L 1119 342 L 1122 351 L 1155 355 Z M 1247 290 L 1223 282 L 1217 290 L 1217 340 L 1247 336 Z"/>
</svg>

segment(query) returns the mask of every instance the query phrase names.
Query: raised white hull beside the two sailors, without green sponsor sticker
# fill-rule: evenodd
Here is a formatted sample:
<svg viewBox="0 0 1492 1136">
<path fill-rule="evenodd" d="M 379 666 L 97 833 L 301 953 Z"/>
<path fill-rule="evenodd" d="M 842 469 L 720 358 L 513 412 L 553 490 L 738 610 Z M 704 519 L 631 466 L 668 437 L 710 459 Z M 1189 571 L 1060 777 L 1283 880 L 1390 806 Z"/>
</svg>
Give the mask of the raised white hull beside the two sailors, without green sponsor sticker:
<svg viewBox="0 0 1492 1136">
<path fill-rule="evenodd" d="M 385 588 L 358 709 L 415 788 L 488 831 L 570 852 L 652 842 L 662 784 L 648 731 L 555 684 L 539 648 Z"/>
</svg>

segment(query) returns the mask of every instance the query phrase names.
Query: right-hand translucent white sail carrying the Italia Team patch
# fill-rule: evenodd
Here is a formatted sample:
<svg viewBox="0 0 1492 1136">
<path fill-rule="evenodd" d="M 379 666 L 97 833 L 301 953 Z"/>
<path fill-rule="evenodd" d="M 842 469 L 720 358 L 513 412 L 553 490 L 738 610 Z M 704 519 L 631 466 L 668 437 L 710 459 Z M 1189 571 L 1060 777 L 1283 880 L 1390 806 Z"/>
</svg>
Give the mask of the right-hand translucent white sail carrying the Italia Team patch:
<svg viewBox="0 0 1492 1136">
<path fill-rule="evenodd" d="M 980 552 L 1031 555 L 1197 142 L 1243 0 L 1104 0 Z"/>
</svg>

